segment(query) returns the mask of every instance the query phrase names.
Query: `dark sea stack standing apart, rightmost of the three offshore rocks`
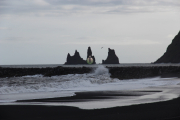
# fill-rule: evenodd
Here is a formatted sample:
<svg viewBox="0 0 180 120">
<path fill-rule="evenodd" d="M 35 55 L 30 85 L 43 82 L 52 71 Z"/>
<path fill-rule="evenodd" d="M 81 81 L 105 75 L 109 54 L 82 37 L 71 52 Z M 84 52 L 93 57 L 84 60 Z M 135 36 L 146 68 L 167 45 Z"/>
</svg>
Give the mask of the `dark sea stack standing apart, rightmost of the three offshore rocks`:
<svg viewBox="0 0 180 120">
<path fill-rule="evenodd" d="M 119 64 L 119 58 L 116 56 L 113 49 L 108 48 L 108 57 L 106 60 L 102 60 L 102 64 Z"/>
</svg>

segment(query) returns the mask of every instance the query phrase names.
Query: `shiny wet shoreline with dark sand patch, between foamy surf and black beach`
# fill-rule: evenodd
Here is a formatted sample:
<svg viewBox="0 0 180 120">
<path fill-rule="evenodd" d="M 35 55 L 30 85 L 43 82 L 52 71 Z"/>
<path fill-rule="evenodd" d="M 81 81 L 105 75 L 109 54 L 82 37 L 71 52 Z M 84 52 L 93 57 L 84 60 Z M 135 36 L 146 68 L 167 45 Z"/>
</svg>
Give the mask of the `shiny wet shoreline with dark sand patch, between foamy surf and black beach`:
<svg viewBox="0 0 180 120">
<path fill-rule="evenodd" d="M 179 79 L 177 82 L 179 83 Z M 179 96 L 180 85 L 177 84 L 132 90 L 81 91 L 71 96 L 19 99 L 15 102 L 2 102 L 0 105 L 73 106 L 90 110 L 168 101 Z"/>
</svg>

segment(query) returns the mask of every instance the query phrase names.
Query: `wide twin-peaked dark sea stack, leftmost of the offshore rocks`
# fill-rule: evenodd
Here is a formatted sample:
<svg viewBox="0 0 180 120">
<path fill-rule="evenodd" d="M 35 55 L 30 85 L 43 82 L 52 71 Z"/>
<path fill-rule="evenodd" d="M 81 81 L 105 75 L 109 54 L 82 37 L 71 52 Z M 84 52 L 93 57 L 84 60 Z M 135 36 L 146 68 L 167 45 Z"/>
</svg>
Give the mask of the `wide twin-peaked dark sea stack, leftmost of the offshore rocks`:
<svg viewBox="0 0 180 120">
<path fill-rule="evenodd" d="M 75 51 L 73 56 L 71 56 L 68 53 L 67 62 L 65 62 L 65 65 L 75 65 L 75 64 L 87 64 L 87 62 L 80 57 L 80 54 L 77 50 Z"/>
</svg>

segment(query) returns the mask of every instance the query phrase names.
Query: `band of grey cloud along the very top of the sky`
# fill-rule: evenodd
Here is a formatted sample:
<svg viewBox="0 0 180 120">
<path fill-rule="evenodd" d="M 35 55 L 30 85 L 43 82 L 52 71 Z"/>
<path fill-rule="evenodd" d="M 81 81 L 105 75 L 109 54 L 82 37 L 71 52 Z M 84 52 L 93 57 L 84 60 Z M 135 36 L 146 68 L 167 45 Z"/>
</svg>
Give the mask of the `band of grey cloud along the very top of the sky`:
<svg viewBox="0 0 180 120">
<path fill-rule="evenodd" d="M 0 14 L 136 13 L 179 6 L 179 0 L 0 0 Z"/>
</svg>

